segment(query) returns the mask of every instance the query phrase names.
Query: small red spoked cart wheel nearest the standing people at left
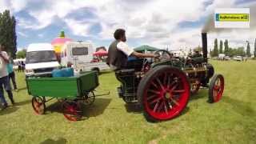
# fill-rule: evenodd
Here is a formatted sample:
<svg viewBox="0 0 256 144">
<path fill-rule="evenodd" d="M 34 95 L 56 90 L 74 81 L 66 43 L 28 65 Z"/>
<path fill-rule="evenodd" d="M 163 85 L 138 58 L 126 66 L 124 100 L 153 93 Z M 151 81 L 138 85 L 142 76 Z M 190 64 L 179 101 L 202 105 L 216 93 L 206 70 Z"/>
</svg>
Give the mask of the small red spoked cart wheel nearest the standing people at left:
<svg viewBox="0 0 256 144">
<path fill-rule="evenodd" d="M 32 98 L 32 106 L 33 106 L 34 111 L 37 114 L 45 114 L 46 104 L 45 104 L 44 98 L 33 97 Z"/>
</svg>

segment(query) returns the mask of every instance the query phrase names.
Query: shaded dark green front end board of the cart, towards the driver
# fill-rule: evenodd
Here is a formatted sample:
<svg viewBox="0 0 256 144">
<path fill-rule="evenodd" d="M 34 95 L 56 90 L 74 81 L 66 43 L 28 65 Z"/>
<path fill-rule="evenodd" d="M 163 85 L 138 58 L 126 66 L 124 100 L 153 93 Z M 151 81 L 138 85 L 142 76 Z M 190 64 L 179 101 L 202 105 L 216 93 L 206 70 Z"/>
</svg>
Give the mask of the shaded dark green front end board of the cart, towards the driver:
<svg viewBox="0 0 256 144">
<path fill-rule="evenodd" d="M 90 71 L 82 74 L 78 78 L 78 83 L 80 86 L 80 92 L 85 94 L 94 90 L 98 86 L 98 74 L 96 71 Z"/>
</svg>

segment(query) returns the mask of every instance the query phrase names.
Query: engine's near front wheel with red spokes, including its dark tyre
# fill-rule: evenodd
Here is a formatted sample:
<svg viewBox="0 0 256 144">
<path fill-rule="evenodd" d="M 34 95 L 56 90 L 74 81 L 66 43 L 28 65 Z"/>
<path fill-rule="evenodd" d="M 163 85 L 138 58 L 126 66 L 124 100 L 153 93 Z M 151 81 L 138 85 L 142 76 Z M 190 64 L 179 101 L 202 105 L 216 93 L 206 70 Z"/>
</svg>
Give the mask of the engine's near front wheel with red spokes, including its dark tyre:
<svg viewBox="0 0 256 144">
<path fill-rule="evenodd" d="M 218 102 L 222 98 L 224 91 L 224 78 L 222 74 L 215 74 L 210 81 L 209 102 Z"/>
</svg>

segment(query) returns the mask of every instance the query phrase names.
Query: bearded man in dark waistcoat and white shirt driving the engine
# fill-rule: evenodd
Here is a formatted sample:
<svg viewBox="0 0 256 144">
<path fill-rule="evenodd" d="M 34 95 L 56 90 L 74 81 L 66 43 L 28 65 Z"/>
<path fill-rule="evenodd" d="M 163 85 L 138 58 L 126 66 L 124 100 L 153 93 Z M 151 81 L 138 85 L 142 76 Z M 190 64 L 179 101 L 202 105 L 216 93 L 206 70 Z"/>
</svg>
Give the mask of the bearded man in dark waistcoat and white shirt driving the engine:
<svg viewBox="0 0 256 144">
<path fill-rule="evenodd" d="M 114 42 L 110 44 L 106 63 L 111 70 L 122 70 L 127 68 L 129 56 L 136 58 L 157 58 L 155 54 L 142 54 L 134 51 L 126 44 L 126 30 L 118 29 L 114 32 Z"/>
</svg>

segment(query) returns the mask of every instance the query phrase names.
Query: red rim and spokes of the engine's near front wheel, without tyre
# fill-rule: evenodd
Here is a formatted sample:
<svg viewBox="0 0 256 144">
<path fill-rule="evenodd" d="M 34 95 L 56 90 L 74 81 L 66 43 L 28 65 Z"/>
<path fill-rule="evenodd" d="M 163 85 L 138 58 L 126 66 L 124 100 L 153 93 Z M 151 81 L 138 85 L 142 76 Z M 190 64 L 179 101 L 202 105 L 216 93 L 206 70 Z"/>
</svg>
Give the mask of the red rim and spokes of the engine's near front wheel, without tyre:
<svg viewBox="0 0 256 144">
<path fill-rule="evenodd" d="M 213 98 L 214 102 L 218 102 L 222 98 L 224 90 L 224 78 L 218 77 L 214 82 Z"/>
</svg>

